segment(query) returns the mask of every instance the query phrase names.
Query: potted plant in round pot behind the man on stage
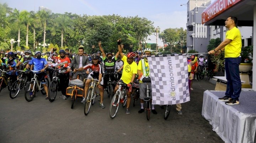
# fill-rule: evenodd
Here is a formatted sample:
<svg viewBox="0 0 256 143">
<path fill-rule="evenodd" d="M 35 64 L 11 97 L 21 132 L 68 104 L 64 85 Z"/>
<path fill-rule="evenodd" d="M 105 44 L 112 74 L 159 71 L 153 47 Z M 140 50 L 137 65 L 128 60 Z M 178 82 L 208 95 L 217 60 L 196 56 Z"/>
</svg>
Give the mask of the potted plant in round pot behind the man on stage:
<svg viewBox="0 0 256 143">
<path fill-rule="evenodd" d="M 252 68 L 252 56 L 253 56 L 253 46 L 242 47 L 241 50 L 241 64 L 239 65 L 239 71 L 246 73 Z"/>
</svg>

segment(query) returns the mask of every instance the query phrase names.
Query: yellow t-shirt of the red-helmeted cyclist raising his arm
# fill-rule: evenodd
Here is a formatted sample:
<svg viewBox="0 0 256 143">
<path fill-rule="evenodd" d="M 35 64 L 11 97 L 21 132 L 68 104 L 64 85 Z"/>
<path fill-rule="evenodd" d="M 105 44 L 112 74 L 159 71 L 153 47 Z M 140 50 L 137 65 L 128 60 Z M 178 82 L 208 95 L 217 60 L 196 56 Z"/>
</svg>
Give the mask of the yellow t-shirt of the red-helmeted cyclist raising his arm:
<svg viewBox="0 0 256 143">
<path fill-rule="evenodd" d="M 137 63 L 133 61 L 131 64 L 128 64 L 126 56 L 123 56 L 122 61 L 124 62 L 124 65 L 121 80 L 123 80 L 125 84 L 129 84 L 133 74 L 137 74 Z"/>
</svg>

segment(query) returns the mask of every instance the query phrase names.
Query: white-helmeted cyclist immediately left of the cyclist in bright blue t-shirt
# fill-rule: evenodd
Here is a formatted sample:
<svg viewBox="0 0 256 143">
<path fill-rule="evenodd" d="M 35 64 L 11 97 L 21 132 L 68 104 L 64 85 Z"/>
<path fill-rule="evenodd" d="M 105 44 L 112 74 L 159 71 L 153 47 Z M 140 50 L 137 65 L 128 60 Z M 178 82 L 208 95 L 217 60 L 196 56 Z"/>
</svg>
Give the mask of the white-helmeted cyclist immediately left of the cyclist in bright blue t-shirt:
<svg viewBox="0 0 256 143">
<path fill-rule="evenodd" d="M 25 50 L 25 57 L 21 58 L 20 61 L 17 63 L 16 67 L 18 67 L 19 65 L 21 65 L 23 63 L 23 66 L 22 66 L 22 70 L 26 71 L 27 68 L 27 64 L 28 62 L 30 62 L 32 60 L 32 58 L 34 57 L 31 57 L 31 50 Z M 30 67 L 29 67 L 30 69 Z M 27 78 L 28 78 L 28 81 L 31 80 L 31 77 L 32 77 L 32 73 L 29 73 L 29 74 L 26 74 Z"/>
</svg>

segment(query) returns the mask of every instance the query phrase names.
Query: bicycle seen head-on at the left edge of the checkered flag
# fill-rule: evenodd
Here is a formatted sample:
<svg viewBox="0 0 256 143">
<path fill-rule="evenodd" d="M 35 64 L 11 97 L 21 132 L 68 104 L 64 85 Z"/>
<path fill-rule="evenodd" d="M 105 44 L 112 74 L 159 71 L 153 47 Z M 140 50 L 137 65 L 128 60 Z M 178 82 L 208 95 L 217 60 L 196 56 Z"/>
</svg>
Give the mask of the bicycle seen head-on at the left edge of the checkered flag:
<svg viewBox="0 0 256 143">
<path fill-rule="evenodd" d="M 149 121 L 150 111 L 151 111 L 151 105 L 150 105 L 151 102 L 150 102 L 150 96 L 149 96 L 150 90 L 148 87 L 148 83 L 151 83 L 151 79 L 150 77 L 144 77 L 142 79 L 142 82 L 146 83 L 146 96 L 144 97 L 144 103 L 145 103 L 146 118 Z"/>
</svg>

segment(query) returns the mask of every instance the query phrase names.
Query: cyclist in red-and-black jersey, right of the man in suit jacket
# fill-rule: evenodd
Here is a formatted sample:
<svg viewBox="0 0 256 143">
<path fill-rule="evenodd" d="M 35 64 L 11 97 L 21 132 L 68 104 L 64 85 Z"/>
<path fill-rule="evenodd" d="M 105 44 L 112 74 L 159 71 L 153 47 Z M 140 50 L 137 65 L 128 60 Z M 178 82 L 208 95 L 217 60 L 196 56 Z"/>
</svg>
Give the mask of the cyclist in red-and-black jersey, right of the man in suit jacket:
<svg viewBox="0 0 256 143">
<path fill-rule="evenodd" d="M 98 84 L 97 84 L 97 87 L 99 88 L 100 90 L 100 98 L 101 98 L 101 101 L 100 101 L 100 107 L 102 109 L 105 108 L 105 105 L 103 105 L 103 93 L 104 93 L 104 89 L 103 89 L 103 78 L 102 78 L 102 64 L 101 62 L 99 61 L 99 56 L 96 55 L 96 54 L 92 54 L 91 56 L 92 58 L 92 63 L 89 63 L 87 65 L 85 65 L 84 67 L 81 67 L 79 69 L 77 69 L 77 71 L 82 71 L 82 70 L 87 70 L 86 73 L 89 74 L 88 75 L 88 78 L 97 78 L 99 81 L 98 81 Z M 89 73 L 89 68 L 92 70 L 90 73 Z M 76 69 L 74 69 L 74 71 L 76 71 Z M 85 103 L 86 102 L 86 94 L 87 94 L 87 91 L 89 89 L 89 84 L 90 84 L 91 80 L 90 79 L 87 79 L 85 81 L 85 88 L 84 88 L 84 95 L 85 97 L 83 98 L 83 100 L 81 101 L 81 103 Z"/>
</svg>

